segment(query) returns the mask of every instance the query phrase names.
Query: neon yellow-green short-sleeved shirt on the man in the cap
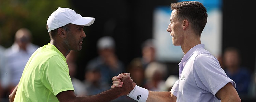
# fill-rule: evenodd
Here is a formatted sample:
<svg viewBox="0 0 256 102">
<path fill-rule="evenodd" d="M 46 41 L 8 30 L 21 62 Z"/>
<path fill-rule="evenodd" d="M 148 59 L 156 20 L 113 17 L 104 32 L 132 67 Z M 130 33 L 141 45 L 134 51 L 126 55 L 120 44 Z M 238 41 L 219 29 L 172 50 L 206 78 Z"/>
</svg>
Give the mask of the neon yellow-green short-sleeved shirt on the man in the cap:
<svg viewBox="0 0 256 102">
<path fill-rule="evenodd" d="M 74 91 L 66 58 L 48 43 L 29 58 L 14 102 L 58 102 L 56 95 L 67 90 Z"/>
</svg>

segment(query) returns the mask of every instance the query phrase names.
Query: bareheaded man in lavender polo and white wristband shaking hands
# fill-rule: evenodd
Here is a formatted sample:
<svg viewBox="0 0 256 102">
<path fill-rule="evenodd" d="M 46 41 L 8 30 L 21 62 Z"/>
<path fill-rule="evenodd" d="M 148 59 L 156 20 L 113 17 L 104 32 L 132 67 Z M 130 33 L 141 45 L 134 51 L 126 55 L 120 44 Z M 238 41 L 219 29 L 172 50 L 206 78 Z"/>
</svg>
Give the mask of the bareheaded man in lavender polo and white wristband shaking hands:
<svg viewBox="0 0 256 102">
<path fill-rule="evenodd" d="M 171 4 L 167 32 L 172 43 L 181 46 L 184 57 L 179 63 L 179 80 L 170 92 L 153 92 L 136 86 L 127 96 L 139 102 L 241 102 L 236 84 L 227 77 L 217 58 L 204 49 L 201 33 L 207 22 L 207 10 L 197 1 Z M 122 87 L 121 73 L 112 78 L 111 88 Z"/>
</svg>

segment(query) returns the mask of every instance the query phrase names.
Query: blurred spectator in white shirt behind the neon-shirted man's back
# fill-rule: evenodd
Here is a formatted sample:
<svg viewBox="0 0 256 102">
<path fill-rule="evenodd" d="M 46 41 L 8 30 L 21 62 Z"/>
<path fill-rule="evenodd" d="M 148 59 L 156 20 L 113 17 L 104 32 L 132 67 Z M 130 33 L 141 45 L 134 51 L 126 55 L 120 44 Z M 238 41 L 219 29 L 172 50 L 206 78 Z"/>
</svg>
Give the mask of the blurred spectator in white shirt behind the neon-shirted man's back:
<svg viewBox="0 0 256 102">
<path fill-rule="evenodd" d="M 8 85 L 7 91 L 11 92 L 19 83 L 23 69 L 38 45 L 31 43 L 32 35 L 27 28 L 19 29 L 15 34 L 13 45 L 6 49 L 6 76 L 5 85 Z M 8 94 L 9 95 L 9 94 Z"/>
</svg>

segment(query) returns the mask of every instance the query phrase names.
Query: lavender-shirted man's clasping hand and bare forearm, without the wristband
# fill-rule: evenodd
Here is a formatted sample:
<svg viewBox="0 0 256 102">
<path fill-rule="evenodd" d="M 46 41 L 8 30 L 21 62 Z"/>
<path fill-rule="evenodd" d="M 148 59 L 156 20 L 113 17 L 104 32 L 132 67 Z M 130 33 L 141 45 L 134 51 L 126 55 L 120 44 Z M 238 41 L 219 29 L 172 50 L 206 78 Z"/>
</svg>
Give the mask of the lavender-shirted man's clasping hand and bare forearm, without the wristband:
<svg viewBox="0 0 256 102">
<path fill-rule="evenodd" d="M 125 83 L 122 83 L 120 78 L 122 78 L 126 73 L 119 74 L 118 76 L 112 77 L 113 85 L 111 88 L 120 88 L 126 87 Z M 153 92 L 149 91 L 148 98 L 146 102 L 176 102 L 177 97 L 174 96 L 171 92 Z"/>
</svg>

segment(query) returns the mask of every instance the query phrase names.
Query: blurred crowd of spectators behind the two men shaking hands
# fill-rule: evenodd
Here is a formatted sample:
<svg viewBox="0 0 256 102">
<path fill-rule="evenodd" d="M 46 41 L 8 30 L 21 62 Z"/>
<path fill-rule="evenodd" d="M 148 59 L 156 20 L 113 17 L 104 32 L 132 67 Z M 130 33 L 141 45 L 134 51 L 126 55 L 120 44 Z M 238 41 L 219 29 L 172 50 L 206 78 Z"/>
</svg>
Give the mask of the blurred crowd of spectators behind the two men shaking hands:
<svg viewBox="0 0 256 102">
<path fill-rule="evenodd" d="M 98 56 L 86 63 L 84 80 L 76 78 L 77 52 L 71 51 L 66 57 L 69 74 L 77 96 L 95 95 L 111 88 L 113 76 L 130 73 L 136 85 L 151 91 L 170 91 L 178 76 L 168 72 L 165 63 L 156 60 L 154 39 L 147 39 L 141 46 L 141 57 L 136 57 L 125 65 L 116 54 L 116 42 L 111 36 L 103 36 L 97 41 Z M 29 57 L 39 46 L 32 43 L 31 32 L 26 28 L 19 29 L 15 41 L 9 48 L 0 46 L 0 97 L 7 101 L 8 95 L 19 83 L 23 69 Z M 241 66 L 239 49 L 226 48 L 220 64 L 228 77 L 236 82 L 236 90 L 240 97 L 255 96 L 255 75 L 248 68 Z M 178 73 L 178 72 L 177 72 Z M 113 101 L 133 99 L 122 96 Z M 135 101 L 136 102 L 136 101 Z"/>
</svg>

